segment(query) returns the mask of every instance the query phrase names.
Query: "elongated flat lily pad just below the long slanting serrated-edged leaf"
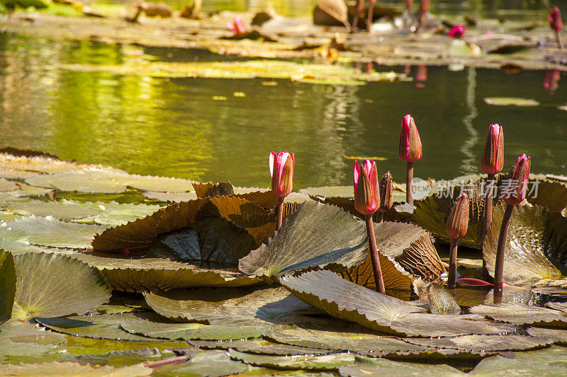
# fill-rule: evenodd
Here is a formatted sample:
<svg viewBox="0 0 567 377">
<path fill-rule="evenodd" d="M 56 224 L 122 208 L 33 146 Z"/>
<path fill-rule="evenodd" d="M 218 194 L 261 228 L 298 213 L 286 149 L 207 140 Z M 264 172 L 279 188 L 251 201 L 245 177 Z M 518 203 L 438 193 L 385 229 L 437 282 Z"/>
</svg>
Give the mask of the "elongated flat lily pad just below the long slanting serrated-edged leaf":
<svg viewBox="0 0 567 377">
<path fill-rule="evenodd" d="M 381 337 L 364 332 L 285 327 L 274 329 L 267 334 L 267 337 L 276 342 L 293 344 L 295 346 L 349 351 L 369 356 L 386 356 L 402 352 L 405 354 L 419 354 L 427 350 L 427 347 L 404 342 L 395 337 Z"/>
</svg>

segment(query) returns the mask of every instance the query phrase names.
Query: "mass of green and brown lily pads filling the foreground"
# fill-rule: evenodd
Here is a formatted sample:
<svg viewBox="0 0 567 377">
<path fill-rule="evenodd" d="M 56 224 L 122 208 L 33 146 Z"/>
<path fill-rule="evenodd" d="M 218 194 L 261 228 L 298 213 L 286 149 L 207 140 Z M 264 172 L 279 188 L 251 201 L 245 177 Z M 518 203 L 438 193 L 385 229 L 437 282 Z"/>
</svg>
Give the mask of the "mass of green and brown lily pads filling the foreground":
<svg viewBox="0 0 567 377">
<path fill-rule="evenodd" d="M 352 187 L 282 200 L 277 190 L 1 152 L 0 375 L 567 372 L 561 177 L 533 176 L 537 197 L 514 209 L 504 269 L 514 285 L 493 304 L 489 288 L 437 284 L 459 190 L 414 209 L 393 185 L 396 203 L 372 224 L 385 295 Z M 461 245 L 481 248 L 475 192 Z M 503 214 L 495 201 L 491 273 Z M 480 258 L 458 265 L 461 277 L 480 274 Z"/>
</svg>

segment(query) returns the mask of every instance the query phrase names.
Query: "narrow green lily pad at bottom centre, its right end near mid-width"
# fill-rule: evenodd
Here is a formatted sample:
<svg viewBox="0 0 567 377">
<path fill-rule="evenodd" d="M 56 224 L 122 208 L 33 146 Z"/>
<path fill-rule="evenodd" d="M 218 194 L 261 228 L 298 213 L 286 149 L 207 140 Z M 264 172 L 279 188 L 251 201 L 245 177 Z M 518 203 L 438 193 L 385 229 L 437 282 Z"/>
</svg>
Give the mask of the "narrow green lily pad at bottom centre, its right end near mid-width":
<svg viewBox="0 0 567 377">
<path fill-rule="evenodd" d="M 271 356 L 260 354 L 246 354 L 230 349 L 230 357 L 235 360 L 244 361 L 246 364 L 255 366 L 266 366 L 278 369 L 306 369 L 306 370 L 333 370 L 339 366 L 351 364 L 354 361 L 353 354 L 329 354 L 329 355 L 303 355 L 303 356 Z"/>
</svg>

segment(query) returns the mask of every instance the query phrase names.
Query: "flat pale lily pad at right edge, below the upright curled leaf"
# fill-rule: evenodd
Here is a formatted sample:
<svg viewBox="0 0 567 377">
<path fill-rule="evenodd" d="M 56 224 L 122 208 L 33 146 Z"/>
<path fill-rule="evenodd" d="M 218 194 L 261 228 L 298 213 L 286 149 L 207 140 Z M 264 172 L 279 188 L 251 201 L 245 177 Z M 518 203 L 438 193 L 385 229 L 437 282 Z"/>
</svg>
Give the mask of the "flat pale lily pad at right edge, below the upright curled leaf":
<svg viewBox="0 0 567 377">
<path fill-rule="evenodd" d="M 498 303 L 473 306 L 469 310 L 471 313 L 485 315 L 494 320 L 517 325 L 567 327 L 567 313 L 549 308 L 518 305 L 515 303 Z"/>
</svg>

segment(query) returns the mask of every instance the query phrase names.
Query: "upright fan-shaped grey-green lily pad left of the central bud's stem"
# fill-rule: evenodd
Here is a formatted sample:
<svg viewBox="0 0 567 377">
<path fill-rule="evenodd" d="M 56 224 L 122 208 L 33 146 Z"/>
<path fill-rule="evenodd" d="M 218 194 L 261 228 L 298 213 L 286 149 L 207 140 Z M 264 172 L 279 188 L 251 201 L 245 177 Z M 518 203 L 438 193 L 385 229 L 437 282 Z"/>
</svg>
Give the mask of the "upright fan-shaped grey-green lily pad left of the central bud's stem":
<svg viewBox="0 0 567 377">
<path fill-rule="evenodd" d="M 337 207 L 305 202 L 269 243 L 243 257 L 247 274 L 281 276 L 313 268 L 347 269 L 366 257 L 366 229 Z"/>
</svg>

